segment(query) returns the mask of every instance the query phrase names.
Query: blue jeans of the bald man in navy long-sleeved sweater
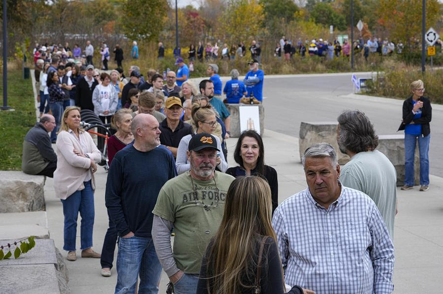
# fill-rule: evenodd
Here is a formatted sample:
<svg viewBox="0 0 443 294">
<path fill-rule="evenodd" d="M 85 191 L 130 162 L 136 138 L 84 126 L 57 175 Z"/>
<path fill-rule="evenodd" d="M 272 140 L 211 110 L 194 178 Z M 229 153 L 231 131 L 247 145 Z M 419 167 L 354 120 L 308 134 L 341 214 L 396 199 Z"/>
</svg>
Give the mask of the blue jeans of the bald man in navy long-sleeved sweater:
<svg viewBox="0 0 443 294">
<path fill-rule="evenodd" d="M 134 293 L 138 275 L 139 294 L 158 294 L 161 265 L 154 241 L 149 237 L 119 238 L 115 294 Z"/>
</svg>

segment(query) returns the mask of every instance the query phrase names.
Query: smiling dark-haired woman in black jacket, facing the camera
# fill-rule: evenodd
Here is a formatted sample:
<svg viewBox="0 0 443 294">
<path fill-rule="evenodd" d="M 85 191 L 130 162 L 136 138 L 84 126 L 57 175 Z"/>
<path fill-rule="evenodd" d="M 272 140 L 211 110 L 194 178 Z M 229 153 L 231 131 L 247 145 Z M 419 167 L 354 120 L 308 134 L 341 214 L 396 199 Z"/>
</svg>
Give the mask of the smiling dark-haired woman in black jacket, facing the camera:
<svg viewBox="0 0 443 294">
<path fill-rule="evenodd" d="M 271 187 L 272 213 L 274 214 L 279 204 L 277 171 L 264 163 L 263 140 L 257 132 L 248 130 L 240 135 L 235 146 L 234 160 L 239 166 L 228 168 L 227 174 L 233 177 L 259 175 L 268 181 Z"/>
</svg>

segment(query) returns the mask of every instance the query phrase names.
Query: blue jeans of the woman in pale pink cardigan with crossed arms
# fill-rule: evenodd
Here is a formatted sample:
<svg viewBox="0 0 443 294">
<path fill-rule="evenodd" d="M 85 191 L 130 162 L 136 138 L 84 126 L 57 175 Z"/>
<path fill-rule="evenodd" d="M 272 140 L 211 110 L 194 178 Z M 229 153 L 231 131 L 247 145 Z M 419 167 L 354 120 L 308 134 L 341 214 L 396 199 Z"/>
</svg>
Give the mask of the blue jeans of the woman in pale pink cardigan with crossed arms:
<svg viewBox="0 0 443 294">
<path fill-rule="evenodd" d="M 82 217 L 80 226 L 80 249 L 85 250 L 93 245 L 92 235 L 94 228 L 94 190 L 91 181 L 84 182 L 85 188 L 75 191 L 63 203 L 64 215 L 64 245 L 66 251 L 75 251 L 75 239 L 77 236 L 78 213 Z"/>
</svg>

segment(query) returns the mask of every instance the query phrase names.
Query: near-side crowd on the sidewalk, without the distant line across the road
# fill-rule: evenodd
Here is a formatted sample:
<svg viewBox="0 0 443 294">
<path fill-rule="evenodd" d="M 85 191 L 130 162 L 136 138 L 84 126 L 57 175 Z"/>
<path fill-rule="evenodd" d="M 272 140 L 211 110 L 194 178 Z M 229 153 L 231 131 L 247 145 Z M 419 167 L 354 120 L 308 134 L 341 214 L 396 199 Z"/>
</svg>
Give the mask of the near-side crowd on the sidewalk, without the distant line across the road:
<svg viewBox="0 0 443 294">
<path fill-rule="evenodd" d="M 292 294 L 393 291 L 396 172 L 376 150 L 378 137 L 364 113 L 344 111 L 338 117 L 340 151 L 351 160 L 341 169 L 329 144 L 309 147 L 303 158 L 308 187 L 279 205 L 278 174 L 265 164 L 259 134 L 241 134 L 234 151 L 238 166 L 228 168 L 223 143 L 231 122 L 218 92 L 222 83 L 217 64 L 209 64 L 210 79 L 199 83 L 200 93 L 180 57 L 177 74 L 168 72 L 166 84 L 156 71 L 148 71 L 144 80 L 136 66 L 125 78 L 123 71 L 98 74 L 91 64 L 63 64 L 57 56 L 49 64 L 37 59 L 37 64 L 42 66 L 40 81 L 46 80 L 52 115 L 42 113 L 25 137 L 22 163 L 38 159 L 32 172 L 49 176 L 49 166 L 56 166 L 54 188 L 63 204 L 63 249 L 69 261 L 77 259 L 79 213 L 81 256 L 100 258 L 103 276 L 111 275 L 118 240 L 116 293 L 134 292 L 138 276 L 139 292 L 157 293 L 162 268 L 177 294 L 218 289 L 284 293 L 285 283 Z M 251 85 L 262 86 L 259 61 L 249 65 L 251 78 L 247 75 L 243 86 L 233 70 L 225 88 L 243 96 Z M 70 77 L 78 76 L 76 83 L 65 78 L 69 71 Z M 44 88 L 40 97 L 42 93 Z M 432 108 L 423 97 L 422 81 L 411 83 L 411 93 L 400 126 L 407 153 L 402 189 L 413 188 L 409 155 L 418 140 L 420 191 L 426 191 Z M 258 99 L 258 92 L 253 94 Z M 101 254 L 92 249 L 94 173 L 101 155 L 80 126 L 80 109 L 94 110 L 117 131 L 108 142 L 109 228 Z M 54 156 L 49 148 L 58 126 Z M 26 155 L 25 145 L 31 152 Z M 325 236 L 322 228 L 328 228 Z"/>
</svg>

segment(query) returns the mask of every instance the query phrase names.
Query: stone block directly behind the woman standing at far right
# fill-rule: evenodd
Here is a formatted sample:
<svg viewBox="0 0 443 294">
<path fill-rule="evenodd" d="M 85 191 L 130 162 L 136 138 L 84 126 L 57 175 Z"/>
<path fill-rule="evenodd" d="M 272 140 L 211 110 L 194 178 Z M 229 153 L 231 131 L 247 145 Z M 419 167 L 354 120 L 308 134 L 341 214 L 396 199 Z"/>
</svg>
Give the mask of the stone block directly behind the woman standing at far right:
<svg viewBox="0 0 443 294">
<path fill-rule="evenodd" d="M 379 147 L 377 147 L 394 165 L 397 172 L 397 186 L 405 183 L 405 135 L 379 135 Z M 414 184 L 420 183 L 420 156 L 418 146 L 415 148 L 414 159 Z"/>
</svg>

